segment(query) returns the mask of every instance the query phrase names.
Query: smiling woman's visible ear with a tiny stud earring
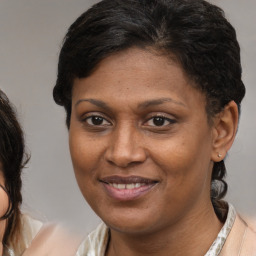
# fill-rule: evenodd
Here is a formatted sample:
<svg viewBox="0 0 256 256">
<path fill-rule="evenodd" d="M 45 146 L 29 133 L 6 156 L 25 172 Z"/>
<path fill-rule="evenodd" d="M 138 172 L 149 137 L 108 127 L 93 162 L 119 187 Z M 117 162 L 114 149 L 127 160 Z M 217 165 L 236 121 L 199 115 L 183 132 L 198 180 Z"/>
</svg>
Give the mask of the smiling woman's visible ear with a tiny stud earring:
<svg viewBox="0 0 256 256">
<path fill-rule="evenodd" d="M 230 101 L 214 117 L 212 161 L 219 162 L 225 158 L 236 136 L 238 118 L 238 108 L 234 101 Z"/>
</svg>

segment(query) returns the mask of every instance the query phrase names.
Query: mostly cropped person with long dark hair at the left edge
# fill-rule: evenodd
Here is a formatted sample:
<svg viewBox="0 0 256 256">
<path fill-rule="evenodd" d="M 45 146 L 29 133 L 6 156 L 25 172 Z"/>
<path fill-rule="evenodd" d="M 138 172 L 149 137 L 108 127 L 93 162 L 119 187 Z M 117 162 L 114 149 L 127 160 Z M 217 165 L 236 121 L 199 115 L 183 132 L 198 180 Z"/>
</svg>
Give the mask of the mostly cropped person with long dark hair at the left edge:
<svg viewBox="0 0 256 256">
<path fill-rule="evenodd" d="M 28 161 L 14 107 L 0 90 L 0 255 L 70 256 L 80 237 L 22 214 L 21 170 Z"/>
</svg>

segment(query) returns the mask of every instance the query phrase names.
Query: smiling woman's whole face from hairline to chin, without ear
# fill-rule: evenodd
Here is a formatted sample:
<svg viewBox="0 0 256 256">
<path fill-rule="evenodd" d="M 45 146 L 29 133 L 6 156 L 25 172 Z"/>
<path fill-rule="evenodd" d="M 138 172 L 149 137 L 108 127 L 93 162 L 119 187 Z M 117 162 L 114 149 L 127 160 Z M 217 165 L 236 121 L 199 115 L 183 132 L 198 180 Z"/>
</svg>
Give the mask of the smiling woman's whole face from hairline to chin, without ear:
<svg viewBox="0 0 256 256">
<path fill-rule="evenodd" d="M 156 232 L 209 209 L 213 128 L 205 104 L 179 65 L 136 48 L 75 80 L 75 175 L 108 226 Z"/>
</svg>

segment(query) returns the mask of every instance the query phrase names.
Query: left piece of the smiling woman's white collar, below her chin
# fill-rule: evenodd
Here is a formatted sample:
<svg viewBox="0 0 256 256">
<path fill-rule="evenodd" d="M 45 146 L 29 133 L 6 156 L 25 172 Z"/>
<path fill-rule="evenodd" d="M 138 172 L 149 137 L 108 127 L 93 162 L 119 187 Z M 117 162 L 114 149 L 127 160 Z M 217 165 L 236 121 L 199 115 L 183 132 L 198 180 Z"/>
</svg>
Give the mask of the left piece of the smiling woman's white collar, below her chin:
<svg viewBox="0 0 256 256">
<path fill-rule="evenodd" d="M 76 256 L 104 256 L 108 239 L 108 227 L 104 223 L 101 223 L 81 243 Z"/>
</svg>

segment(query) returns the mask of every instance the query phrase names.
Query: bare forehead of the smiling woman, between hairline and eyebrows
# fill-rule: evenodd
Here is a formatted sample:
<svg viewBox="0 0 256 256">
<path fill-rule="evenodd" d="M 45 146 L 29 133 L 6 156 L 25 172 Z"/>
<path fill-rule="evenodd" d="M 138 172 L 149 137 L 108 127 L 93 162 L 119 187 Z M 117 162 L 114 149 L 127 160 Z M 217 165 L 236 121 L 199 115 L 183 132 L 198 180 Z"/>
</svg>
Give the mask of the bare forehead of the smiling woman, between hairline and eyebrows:
<svg viewBox="0 0 256 256">
<path fill-rule="evenodd" d="M 90 76 L 75 79 L 72 96 L 73 103 L 91 97 L 133 104 L 166 95 L 187 105 L 204 99 L 177 62 L 163 54 L 131 48 L 102 60 Z"/>
</svg>

